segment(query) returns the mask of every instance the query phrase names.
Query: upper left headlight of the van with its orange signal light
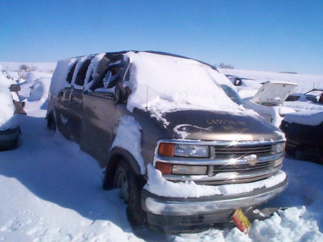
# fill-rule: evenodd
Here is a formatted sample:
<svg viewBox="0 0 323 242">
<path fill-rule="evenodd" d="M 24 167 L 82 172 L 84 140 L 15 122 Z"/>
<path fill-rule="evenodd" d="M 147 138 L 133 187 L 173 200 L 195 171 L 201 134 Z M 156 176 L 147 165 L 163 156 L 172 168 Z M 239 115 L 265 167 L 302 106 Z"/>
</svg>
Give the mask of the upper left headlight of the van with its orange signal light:
<svg viewBox="0 0 323 242">
<path fill-rule="evenodd" d="M 209 149 L 207 145 L 185 145 L 163 142 L 159 144 L 158 154 L 163 156 L 207 158 Z"/>
</svg>

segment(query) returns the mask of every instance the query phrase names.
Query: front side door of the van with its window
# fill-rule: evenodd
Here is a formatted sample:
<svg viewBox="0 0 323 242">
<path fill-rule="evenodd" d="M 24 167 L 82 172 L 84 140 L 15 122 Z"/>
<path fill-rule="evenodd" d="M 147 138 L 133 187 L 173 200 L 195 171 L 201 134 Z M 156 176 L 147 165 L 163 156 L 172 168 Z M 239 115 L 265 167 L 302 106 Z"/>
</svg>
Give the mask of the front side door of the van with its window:
<svg viewBox="0 0 323 242">
<path fill-rule="evenodd" d="M 108 88 L 109 81 L 120 77 L 119 68 L 111 63 L 115 63 L 113 56 L 102 58 L 100 64 L 105 68 L 99 65 L 100 71 L 91 87 L 92 91 L 83 95 L 81 149 L 94 156 L 102 166 L 114 139 L 114 128 L 123 113 L 120 105 L 115 105 L 114 87 Z M 124 65 L 120 67 L 124 68 Z"/>
</svg>

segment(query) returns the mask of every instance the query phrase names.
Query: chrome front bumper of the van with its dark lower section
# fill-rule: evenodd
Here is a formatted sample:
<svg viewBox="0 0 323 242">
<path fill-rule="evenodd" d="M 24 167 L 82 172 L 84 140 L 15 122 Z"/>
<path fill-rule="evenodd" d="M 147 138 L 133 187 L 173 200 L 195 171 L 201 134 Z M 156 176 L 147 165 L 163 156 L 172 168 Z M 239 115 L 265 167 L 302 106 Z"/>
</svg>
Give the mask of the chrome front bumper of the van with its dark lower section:
<svg viewBox="0 0 323 242">
<path fill-rule="evenodd" d="M 221 223 L 230 220 L 238 208 L 249 209 L 281 193 L 286 179 L 270 188 L 261 188 L 238 195 L 216 195 L 200 198 L 168 198 L 142 191 L 141 204 L 147 212 L 148 223 L 157 227 L 187 227 Z"/>
</svg>

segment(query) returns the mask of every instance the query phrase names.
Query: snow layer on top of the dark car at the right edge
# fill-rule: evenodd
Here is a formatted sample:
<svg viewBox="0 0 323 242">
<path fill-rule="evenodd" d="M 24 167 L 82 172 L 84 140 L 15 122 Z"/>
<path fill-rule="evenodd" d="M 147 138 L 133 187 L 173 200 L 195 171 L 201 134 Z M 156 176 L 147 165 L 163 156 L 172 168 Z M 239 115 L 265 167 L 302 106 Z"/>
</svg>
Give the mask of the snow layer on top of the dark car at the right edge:
<svg viewBox="0 0 323 242">
<path fill-rule="evenodd" d="M 288 123 L 316 126 L 323 122 L 323 111 L 308 110 L 286 114 L 284 120 Z"/>
</svg>

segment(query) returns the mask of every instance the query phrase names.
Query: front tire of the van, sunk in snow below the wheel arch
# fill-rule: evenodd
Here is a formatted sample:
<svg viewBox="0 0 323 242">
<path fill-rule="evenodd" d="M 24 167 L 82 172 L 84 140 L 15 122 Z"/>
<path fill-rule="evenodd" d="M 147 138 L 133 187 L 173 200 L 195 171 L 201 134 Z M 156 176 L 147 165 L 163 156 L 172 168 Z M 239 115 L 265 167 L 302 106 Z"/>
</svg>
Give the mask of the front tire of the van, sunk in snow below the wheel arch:
<svg viewBox="0 0 323 242">
<path fill-rule="evenodd" d="M 146 221 L 146 212 L 141 207 L 141 190 L 144 179 L 136 175 L 127 160 L 119 161 L 115 176 L 114 188 L 120 188 L 120 196 L 128 204 L 127 217 L 131 226 L 141 226 Z"/>
</svg>

